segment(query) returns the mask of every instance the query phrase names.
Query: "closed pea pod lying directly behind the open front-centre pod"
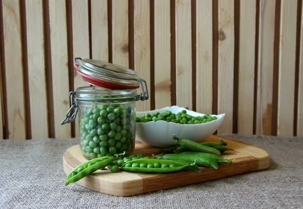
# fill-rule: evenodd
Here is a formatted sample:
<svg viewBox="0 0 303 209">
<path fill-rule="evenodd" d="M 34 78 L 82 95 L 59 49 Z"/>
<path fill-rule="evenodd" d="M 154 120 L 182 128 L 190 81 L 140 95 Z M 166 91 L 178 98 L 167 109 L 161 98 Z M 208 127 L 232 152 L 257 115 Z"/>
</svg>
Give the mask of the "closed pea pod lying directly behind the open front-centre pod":
<svg viewBox="0 0 303 209">
<path fill-rule="evenodd" d="M 195 164 L 198 166 L 213 167 L 215 169 L 218 169 L 218 164 L 215 160 L 209 157 L 198 156 L 198 155 L 166 154 L 166 155 L 154 156 L 154 159 L 173 160 L 173 161 L 180 160 L 188 163 L 195 162 Z"/>
</svg>

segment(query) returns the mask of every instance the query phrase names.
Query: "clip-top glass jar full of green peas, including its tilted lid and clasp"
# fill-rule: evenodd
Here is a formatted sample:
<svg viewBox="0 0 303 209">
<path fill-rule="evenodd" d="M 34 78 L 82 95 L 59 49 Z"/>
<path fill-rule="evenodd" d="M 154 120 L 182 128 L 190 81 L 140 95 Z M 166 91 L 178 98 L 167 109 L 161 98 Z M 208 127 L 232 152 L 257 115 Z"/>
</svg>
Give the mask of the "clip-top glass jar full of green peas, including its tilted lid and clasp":
<svg viewBox="0 0 303 209">
<path fill-rule="evenodd" d="M 131 155 L 135 147 L 136 101 L 148 99 L 146 82 L 119 65 L 74 60 L 79 64 L 77 73 L 90 86 L 70 92 L 71 108 L 61 124 L 74 121 L 78 115 L 79 145 L 86 159 L 124 152 L 125 156 Z"/>
</svg>

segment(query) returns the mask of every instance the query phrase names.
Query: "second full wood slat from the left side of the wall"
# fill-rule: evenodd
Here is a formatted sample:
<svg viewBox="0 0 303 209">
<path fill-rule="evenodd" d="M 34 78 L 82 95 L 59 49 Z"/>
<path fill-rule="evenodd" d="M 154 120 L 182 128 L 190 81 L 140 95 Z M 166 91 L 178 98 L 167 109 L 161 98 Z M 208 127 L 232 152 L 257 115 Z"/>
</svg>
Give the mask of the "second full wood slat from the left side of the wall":
<svg viewBox="0 0 303 209">
<path fill-rule="evenodd" d="M 32 138 L 48 137 L 42 0 L 26 1 L 27 60 Z"/>
</svg>

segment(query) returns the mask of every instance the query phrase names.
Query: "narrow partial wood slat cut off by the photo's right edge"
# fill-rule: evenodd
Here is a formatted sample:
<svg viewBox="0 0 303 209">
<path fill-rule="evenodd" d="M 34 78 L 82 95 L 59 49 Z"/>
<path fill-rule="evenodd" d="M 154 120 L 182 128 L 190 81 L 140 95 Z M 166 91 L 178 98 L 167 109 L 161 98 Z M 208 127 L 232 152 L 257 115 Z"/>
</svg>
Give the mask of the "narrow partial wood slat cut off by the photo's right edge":
<svg viewBox="0 0 303 209">
<path fill-rule="evenodd" d="M 298 115 L 297 136 L 303 136 L 303 14 L 301 14 L 300 54 L 299 54 L 299 83 L 298 83 Z"/>
</svg>

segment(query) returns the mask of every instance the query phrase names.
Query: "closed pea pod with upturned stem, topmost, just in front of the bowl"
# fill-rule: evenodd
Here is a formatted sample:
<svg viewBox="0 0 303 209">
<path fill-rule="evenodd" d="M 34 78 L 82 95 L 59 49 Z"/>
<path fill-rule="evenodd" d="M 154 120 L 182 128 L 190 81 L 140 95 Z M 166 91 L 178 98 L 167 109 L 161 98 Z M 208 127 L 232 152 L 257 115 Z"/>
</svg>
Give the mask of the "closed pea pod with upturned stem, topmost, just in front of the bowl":
<svg viewBox="0 0 303 209">
<path fill-rule="evenodd" d="M 173 134 L 173 139 L 175 140 L 175 142 L 178 142 L 182 147 L 184 147 L 190 151 L 211 153 L 211 154 L 219 155 L 219 156 L 221 155 L 220 151 L 215 148 L 200 145 L 200 144 L 190 141 L 190 140 L 180 139 L 177 136 L 175 136 L 174 134 Z"/>
</svg>

